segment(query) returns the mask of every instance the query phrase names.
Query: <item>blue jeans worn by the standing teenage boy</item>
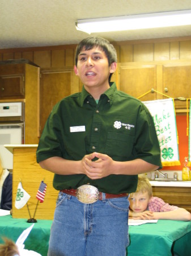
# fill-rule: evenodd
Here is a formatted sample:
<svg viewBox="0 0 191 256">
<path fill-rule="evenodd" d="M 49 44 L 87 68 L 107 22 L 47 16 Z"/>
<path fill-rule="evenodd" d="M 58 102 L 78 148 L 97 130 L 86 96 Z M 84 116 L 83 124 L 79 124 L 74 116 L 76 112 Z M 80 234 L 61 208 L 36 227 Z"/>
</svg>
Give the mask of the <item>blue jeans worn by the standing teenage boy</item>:
<svg viewBox="0 0 191 256">
<path fill-rule="evenodd" d="M 58 194 L 48 256 L 125 256 L 129 244 L 128 197 L 83 204 Z"/>
</svg>

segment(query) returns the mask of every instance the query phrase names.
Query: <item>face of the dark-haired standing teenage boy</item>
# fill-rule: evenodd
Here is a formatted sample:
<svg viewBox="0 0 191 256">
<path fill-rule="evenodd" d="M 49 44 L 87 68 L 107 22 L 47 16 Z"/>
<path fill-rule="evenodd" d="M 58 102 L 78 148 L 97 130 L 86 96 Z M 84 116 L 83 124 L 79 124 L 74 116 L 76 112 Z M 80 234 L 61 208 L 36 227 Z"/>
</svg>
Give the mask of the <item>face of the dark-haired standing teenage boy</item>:
<svg viewBox="0 0 191 256">
<path fill-rule="evenodd" d="M 78 55 L 75 75 L 79 76 L 88 92 L 92 88 L 99 88 L 105 92 L 109 88 L 109 75 L 116 71 L 116 63 L 108 64 L 105 52 L 99 47 L 89 50 L 82 49 Z"/>
</svg>

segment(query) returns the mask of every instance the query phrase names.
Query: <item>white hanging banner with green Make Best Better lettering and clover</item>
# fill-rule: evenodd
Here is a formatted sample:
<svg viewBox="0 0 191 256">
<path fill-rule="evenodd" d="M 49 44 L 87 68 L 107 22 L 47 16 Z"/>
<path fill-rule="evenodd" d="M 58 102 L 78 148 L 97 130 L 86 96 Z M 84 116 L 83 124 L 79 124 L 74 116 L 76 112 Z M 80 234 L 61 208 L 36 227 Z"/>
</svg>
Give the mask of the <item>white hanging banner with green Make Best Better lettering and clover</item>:
<svg viewBox="0 0 191 256">
<path fill-rule="evenodd" d="M 143 101 L 152 115 L 163 166 L 180 166 L 175 106 L 172 98 Z"/>
</svg>

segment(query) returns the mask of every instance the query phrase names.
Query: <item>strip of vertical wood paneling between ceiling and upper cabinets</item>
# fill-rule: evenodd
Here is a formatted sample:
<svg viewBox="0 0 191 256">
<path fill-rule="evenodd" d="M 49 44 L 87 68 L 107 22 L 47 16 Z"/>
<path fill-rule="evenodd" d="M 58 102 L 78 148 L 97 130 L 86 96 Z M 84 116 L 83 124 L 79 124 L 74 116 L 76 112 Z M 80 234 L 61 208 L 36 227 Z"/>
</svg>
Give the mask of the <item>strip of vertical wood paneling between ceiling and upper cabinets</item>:
<svg viewBox="0 0 191 256">
<path fill-rule="evenodd" d="M 191 59 L 191 36 L 113 42 L 117 50 L 118 63 L 133 61 L 158 61 Z M 76 45 L 0 49 L 0 60 L 16 59 L 22 53 L 42 68 L 74 65 Z"/>
</svg>

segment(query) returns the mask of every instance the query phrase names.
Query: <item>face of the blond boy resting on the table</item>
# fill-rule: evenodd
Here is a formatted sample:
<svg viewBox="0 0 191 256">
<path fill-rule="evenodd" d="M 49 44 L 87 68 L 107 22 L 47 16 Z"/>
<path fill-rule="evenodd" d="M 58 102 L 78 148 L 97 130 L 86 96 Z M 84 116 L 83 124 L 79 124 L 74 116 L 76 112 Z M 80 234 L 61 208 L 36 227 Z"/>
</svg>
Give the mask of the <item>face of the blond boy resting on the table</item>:
<svg viewBox="0 0 191 256">
<path fill-rule="evenodd" d="M 144 193 L 132 193 L 129 197 L 130 209 L 135 213 L 144 212 L 147 209 L 149 200 L 150 197 L 147 191 Z"/>
</svg>

